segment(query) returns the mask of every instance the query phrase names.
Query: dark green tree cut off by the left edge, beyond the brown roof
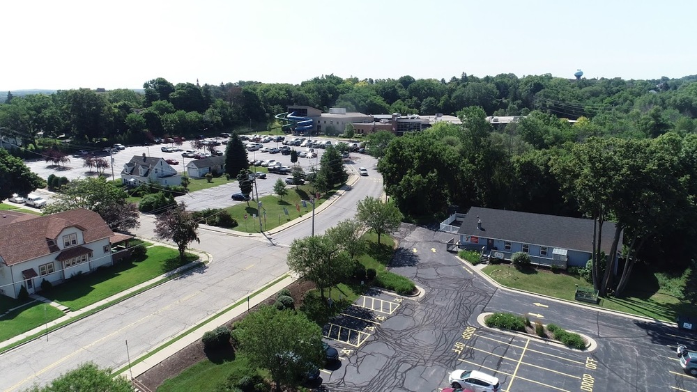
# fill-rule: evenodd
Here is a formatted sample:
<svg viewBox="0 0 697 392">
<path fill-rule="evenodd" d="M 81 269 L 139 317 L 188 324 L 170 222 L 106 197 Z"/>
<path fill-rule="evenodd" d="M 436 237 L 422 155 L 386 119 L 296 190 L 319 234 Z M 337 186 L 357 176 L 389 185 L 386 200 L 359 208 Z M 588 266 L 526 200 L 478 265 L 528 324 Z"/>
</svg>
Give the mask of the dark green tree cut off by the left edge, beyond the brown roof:
<svg viewBox="0 0 697 392">
<path fill-rule="evenodd" d="M 0 184 L 0 201 L 12 197 L 12 194 L 26 196 L 46 186 L 46 182 L 34 174 L 22 159 L 13 157 L 4 148 L 0 148 Z"/>
</svg>

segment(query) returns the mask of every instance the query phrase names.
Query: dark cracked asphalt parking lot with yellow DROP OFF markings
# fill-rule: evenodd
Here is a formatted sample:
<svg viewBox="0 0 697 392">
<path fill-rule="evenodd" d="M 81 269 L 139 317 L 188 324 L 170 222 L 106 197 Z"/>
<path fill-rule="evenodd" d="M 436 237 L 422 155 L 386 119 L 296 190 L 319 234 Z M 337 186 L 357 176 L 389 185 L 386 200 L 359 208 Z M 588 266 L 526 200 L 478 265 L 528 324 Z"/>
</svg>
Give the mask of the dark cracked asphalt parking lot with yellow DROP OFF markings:
<svg viewBox="0 0 697 392">
<path fill-rule="evenodd" d="M 332 338 L 342 361 L 323 371 L 325 389 L 434 392 L 449 386 L 452 370 L 464 369 L 498 377 L 506 392 L 697 391 L 697 379 L 684 373 L 674 352 L 678 341 L 697 349 L 695 336 L 496 289 L 445 251 L 444 236 L 402 225 L 392 271 L 413 279 L 425 294 L 361 298 L 355 305 L 365 307 L 353 306 L 332 320 L 325 338 Z M 532 309 L 545 323 L 590 336 L 597 348 L 570 350 L 477 322 L 484 312 Z"/>
</svg>

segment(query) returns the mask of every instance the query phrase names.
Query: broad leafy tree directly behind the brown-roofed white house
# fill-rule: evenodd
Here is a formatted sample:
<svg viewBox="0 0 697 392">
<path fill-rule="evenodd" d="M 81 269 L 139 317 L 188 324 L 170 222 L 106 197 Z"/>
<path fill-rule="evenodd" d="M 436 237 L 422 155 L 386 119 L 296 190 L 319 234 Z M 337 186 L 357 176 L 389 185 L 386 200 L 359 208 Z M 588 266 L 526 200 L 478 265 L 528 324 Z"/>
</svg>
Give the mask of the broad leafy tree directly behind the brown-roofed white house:
<svg viewBox="0 0 697 392">
<path fill-rule="evenodd" d="M 61 188 L 54 202 L 45 207 L 47 214 L 85 208 L 104 219 L 112 230 L 128 230 L 140 226 L 138 208 L 126 201 L 121 187 L 103 177 L 78 178 Z"/>
</svg>

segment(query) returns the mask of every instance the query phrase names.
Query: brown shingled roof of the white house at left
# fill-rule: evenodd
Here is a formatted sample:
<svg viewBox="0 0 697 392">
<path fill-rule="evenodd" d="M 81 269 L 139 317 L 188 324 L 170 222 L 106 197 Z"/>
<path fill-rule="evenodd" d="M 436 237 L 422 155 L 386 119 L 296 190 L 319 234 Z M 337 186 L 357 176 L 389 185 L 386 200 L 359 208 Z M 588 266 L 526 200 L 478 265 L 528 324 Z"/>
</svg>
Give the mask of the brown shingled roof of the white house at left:
<svg viewBox="0 0 697 392">
<path fill-rule="evenodd" d="M 0 257 L 14 265 L 54 253 L 56 236 L 68 227 L 82 230 L 85 244 L 114 235 L 98 213 L 79 208 L 0 226 Z"/>
</svg>

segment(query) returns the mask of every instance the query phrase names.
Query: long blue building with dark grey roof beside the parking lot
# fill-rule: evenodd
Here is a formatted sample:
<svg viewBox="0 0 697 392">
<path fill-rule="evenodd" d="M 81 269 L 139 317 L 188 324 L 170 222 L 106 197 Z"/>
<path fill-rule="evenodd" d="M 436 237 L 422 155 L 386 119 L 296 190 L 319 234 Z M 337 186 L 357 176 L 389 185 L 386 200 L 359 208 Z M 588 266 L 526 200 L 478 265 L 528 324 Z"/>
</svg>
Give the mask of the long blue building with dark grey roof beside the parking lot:
<svg viewBox="0 0 697 392">
<path fill-rule="evenodd" d="M 593 224 L 592 219 L 471 207 L 457 233 L 460 248 L 481 251 L 485 259 L 510 260 L 513 253 L 525 252 L 537 265 L 585 267 L 592 258 Z M 602 228 L 601 247 L 609 254 L 615 224 L 604 222 Z"/>
</svg>

